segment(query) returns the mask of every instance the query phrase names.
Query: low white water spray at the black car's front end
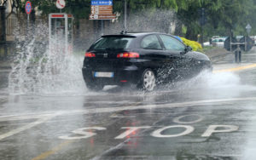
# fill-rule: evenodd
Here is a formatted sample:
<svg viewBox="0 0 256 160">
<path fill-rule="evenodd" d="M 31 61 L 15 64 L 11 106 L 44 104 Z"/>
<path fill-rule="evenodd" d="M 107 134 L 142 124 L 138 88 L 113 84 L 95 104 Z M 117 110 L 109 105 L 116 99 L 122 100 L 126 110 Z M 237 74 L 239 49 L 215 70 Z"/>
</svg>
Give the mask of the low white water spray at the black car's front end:
<svg viewBox="0 0 256 160">
<path fill-rule="evenodd" d="M 239 97 L 256 90 L 255 86 L 241 83 L 239 74 L 234 72 L 212 73 L 209 71 L 201 71 L 196 77 L 167 87 L 174 92 L 206 99 Z"/>
</svg>

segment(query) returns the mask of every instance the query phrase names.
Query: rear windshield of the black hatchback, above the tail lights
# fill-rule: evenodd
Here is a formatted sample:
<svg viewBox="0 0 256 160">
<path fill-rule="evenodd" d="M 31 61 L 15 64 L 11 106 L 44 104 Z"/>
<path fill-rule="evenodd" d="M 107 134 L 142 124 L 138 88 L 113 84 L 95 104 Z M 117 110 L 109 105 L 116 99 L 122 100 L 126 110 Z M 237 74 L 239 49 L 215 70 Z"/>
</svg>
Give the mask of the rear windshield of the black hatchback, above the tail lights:
<svg viewBox="0 0 256 160">
<path fill-rule="evenodd" d="M 134 37 L 102 37 L 91 49 L 127 49 Z"/>
</svg>

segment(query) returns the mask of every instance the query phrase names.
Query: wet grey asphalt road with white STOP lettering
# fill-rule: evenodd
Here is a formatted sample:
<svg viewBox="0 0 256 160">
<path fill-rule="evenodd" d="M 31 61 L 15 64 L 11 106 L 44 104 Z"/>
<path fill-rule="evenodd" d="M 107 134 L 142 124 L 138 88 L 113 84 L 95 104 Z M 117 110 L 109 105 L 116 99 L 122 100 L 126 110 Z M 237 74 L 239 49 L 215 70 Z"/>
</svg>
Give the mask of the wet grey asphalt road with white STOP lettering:
<svg viewBox="0 0 256 160">
<path fill-rule="evenodd" d="M 256 159 L 256 52 L 212 62 L 151 93 L 9 94 L 2 70 L 0 159 Z"/>
</svg>

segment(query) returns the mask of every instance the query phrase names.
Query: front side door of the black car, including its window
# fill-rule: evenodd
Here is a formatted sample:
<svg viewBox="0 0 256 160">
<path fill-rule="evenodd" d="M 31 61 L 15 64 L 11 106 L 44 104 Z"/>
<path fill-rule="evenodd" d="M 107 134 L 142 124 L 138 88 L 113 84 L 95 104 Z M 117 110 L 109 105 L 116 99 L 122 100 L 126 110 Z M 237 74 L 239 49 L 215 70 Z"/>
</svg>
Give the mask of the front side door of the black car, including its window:
<svg viewBox="0 0 256 160">
<path fill-rule="evenodd" d="M 181 54 L 186 48 L 185 45 L 176 37 L 164 34 L 160 34 L 159 37 L 168 54 L 168 79 L 176 81 L 186 77 L 191 59 L 186 54 Z"/>
</svg>

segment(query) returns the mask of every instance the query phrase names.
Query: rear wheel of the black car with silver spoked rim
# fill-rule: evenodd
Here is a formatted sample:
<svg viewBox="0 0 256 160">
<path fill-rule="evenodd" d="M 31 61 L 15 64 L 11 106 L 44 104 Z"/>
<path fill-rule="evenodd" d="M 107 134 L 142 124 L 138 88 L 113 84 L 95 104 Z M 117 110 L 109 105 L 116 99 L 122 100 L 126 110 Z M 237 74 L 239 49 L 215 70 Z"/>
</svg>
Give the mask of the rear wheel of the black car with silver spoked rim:
<svg viewBox="0 0 256 160">
<path fill-rule="evenodd" d="M 142 75 L 142 83 L 141 83 L 141 88 L 146 90 L 146 91 L 153 91 L 154 87 L 155 87 L 155 75 L 154 75 L 154 71 L 150 70 L 150 69 L 146 69 L 145 71 L 143 71 L 143 75 Z"/>
</svg>

